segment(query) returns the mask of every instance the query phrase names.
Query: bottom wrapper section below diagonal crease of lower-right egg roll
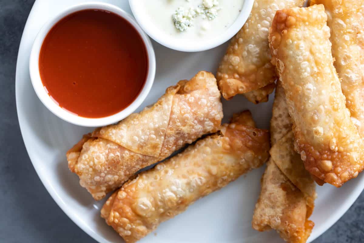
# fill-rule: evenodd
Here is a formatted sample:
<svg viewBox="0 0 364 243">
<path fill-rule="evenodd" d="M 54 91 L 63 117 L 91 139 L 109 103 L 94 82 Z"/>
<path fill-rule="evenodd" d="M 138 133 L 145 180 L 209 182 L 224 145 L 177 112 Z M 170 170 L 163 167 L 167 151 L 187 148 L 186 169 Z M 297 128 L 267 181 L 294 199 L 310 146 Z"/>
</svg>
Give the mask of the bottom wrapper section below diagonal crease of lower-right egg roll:
<svg viewBox="0 0 364 243">
<path fill-rule="evenodd" d="M 289 243 L 306 242 L 314 224 L 307 220 L 305 197 L 272 158 L 267 163 L 261 184 L 253 215 L 253 228 L 258 231 L 273 228 Z"/>
</svg>

